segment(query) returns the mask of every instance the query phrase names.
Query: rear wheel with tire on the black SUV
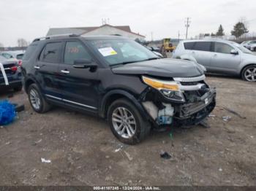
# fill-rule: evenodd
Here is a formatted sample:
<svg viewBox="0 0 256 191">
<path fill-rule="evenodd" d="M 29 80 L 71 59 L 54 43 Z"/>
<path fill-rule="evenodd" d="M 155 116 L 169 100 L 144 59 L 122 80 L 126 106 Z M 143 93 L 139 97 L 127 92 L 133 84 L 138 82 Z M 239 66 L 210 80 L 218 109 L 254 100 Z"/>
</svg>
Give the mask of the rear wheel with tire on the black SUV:
<svg viewBox="0 0 256 191">
<path fill-rule="evenodd" d="M 31 84 L 28 90 L 29 102 L 31 107 L 37 113 L 48 112 L 51 108 L 50 104 L 45 101 L 45 98 L 42 96 L 42 93 L 39 90 L 39 87 L 36 84 Z"/>
</svg>

